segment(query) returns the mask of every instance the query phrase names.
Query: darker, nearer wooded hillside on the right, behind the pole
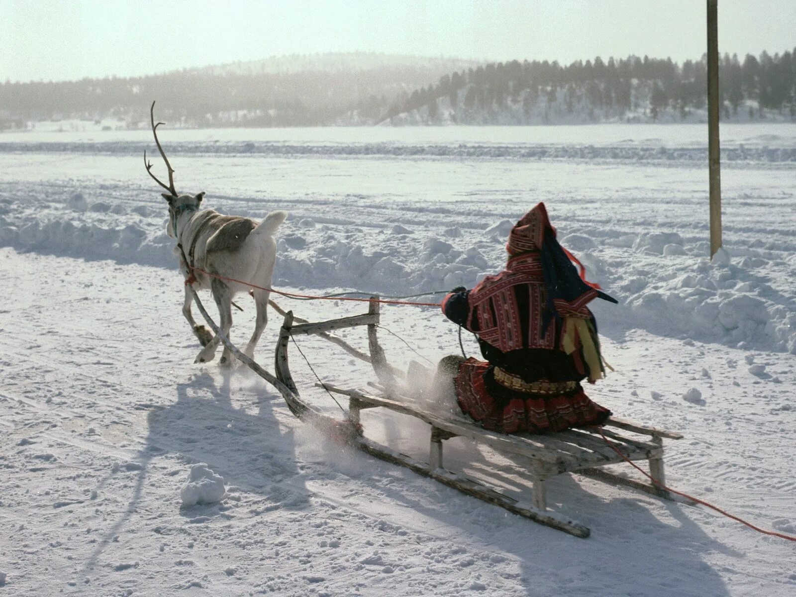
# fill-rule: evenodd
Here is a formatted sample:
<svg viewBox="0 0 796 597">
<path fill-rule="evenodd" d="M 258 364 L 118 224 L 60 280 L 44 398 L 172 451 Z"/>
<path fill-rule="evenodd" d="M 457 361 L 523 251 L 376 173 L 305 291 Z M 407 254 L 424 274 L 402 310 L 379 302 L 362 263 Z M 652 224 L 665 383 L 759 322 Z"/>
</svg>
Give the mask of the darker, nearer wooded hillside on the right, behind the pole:
<svg viewBox="0 0 796 597">
<path fill-rule="evenodd" d="M 725 119 L 765 118 L 775 111 L 796 118 L 796 49 L 771 56 L 725 54 L 719 66 Z M 607 62 L 486 64 L 454 72 L 420 88 L 384 115 L 393 119 L 422 111 L 419 119 L 433 123 L 529 123 L 566 119 L 603 121 L 643 115 L 657 120 L 687 119 L 707 104 L 706 58 L 685 60 L 631 56 Z M 743 114 L 739 114 L 743 111 Z"/>
</svg>

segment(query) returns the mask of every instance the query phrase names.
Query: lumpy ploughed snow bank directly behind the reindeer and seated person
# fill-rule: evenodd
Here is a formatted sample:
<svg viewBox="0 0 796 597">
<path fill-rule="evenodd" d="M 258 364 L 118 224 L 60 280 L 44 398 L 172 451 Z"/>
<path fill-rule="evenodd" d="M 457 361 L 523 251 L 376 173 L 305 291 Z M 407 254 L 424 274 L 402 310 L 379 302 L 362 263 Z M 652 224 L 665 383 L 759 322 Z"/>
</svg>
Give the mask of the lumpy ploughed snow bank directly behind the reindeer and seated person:
<svg viewBox="0 0 796 597">
<path fill-rule="evenodd" d="M 75 201 L 68 198 L 67 203 Z M 118 217 L 93 209 L 96 202 L 78 203 L 85 203 L 86 209 L 68 215 L 56 211 L 49 220 L 35 210 L 29 217 L 0 215 L 0 246 L 176 267 L 174 241 L 166 236 L 162 214 L 156 210 L 131 209 Z M 505 237 L 513 224 L 500 220 L 475 235 L 456 228 L 461 236 L 455 236 L 449 228 L 435 231 L 404 224 L 386 228 L 385 224 L 377 232 L 363 232 L 314 221 L 310 226 L 309 221 L 298 218 L 284 226 L 275 285 L 339 287 L 383 295 L 474 286 L 505 263 Z M 482 240 L 473 243 L 478 237 Z M 579 256 L 590 279 L 602 283 L 622 303 L 607 308 L 597 304 L 603 322 L 796 353 L 796 301 L 792 293 L 771 287 L 762 275 L 771 267 L 771 259 L 752 257 L 749 250 L 746 256 L 731 257 L 723 250 L 709 262 L 704 244 L 686 243 L 677 232 L 604 232 L 601 237 L 584 229 L 562 236 L 562 241 Z"/>
</svg>

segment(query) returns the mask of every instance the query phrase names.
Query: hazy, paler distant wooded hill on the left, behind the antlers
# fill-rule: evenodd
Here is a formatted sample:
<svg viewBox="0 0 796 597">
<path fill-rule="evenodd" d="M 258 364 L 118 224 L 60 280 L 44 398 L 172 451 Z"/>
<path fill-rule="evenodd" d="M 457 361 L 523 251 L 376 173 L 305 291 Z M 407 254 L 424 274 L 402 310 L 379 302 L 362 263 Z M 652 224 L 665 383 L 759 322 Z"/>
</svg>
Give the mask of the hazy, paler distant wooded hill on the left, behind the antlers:
<svg viewBox="0 0 796 597">
<path fill-rule="evenodd" d="M 6 81 L 0 84 L 0 119 L 21 124 L 114 117 L 135 126 L 149 119 L 151 100 L 159 100 L 158 117 L 186 127 L 372 123 L 413 89 L 473 64 L 444 59 L 390 64 L 389 58 L 374 65 L 368 55 L 361 60 L 352 55 L 349 62 L 366 61 L 364 68 L 328 68 L 319 59 L 317 68 L 304 64 L 298 71 L 259 72 L 251 65 L 232 64 L 132 78 Z"/>
</svg>

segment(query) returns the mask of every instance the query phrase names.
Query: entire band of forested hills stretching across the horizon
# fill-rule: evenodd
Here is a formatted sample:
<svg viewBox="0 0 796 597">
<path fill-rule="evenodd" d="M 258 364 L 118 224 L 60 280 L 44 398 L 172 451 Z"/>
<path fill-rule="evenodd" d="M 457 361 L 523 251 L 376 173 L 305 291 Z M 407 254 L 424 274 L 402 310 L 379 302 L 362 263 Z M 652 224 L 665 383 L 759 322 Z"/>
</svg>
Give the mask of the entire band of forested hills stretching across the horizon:
<svg viewBox="0 0 796 597">
<path fill-rule="evenodd" d="M 375 56 L 375 58 L 374 58 Z M 704 114 L 705 58 L 465 60 L 371 54 L 291 57 L 133 78 L 0 84 L 0 128 L 114 118 L 184 127 L 687 121 Z M 293 64 L 291 67 L 290 64 Z M 724 119 L 796 120 L 796 49 L 720 60 Z"/>
</svg>

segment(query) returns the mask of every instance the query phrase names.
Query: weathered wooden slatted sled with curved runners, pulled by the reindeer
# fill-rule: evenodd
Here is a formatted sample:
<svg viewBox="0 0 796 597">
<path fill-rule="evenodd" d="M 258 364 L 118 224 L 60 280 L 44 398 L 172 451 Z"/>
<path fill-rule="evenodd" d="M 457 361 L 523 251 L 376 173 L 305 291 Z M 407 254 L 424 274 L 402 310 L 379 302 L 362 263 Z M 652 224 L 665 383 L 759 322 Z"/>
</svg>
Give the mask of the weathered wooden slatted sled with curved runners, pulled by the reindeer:
<svg viewBox="0 0 796 597">
<path fill-rule="evenodd" d="M 376 297 L 373 297 L 376 298 Z M 682 435 L 672 431 L 665 431 L 654 427 L 646 427 L 626 419 L 611 417 L 604 423 L 603 435 L 594 428 L 571 429 L 558 433 L 545 435 L 517 434 L 503 435 L 488 431 L 472 423 L 470 419 L 461 417 L 443 417 L 428 412 L 411 397 L 411 392 L 401 389 L 397 378 L 404 376 L 403 372 L 388 365 L 384 350 L 377 338 L 379 324 L 379 303 L 371 301 L 366 314 L 353 317 L 333 319 L 326 322 L 310 323 L 294 318 L 292 311 L 285 313 L 275 303 L 271 303 L 279 313 L 284 315 L 282 329 L 279 331 L 279 341 L 275 353 L 276 378 L 279 384 L 276 387 L 282 392 L 296 416 L 301 419 L 310 419 L 324 427 L 334 429 L 338 434 L 345 435 L 345 439 L 353 446 L 367 452 L 369 455 L 381 458 L 400 466 L 414 470 L 418 474 L 430 477 L 449 487 L 459 490 L 464 494 L 478 497 L 490 504 L 498 505 L 509 512 L 571 533 L 576 537 L 588 537 L 590 530 L 565 516 L 547 508 L 545 482 L 556 474 L 576 473 L 599 481 L 615 485 L 629 486 L 636 490 L 645 491 L 665 499 L 673 499 L 669 492 L 646 482 L 635 481 L 630 478 L 613 474 L 603 470 L 604 466 L 623 462 L 614 449 L 630 460 L 649 461 L 650 474 L 661 484 L 665 483 L 663 467 L 663 439 L 682 439 Z M 369 353 L 363 353 L 349 345 L 340 338 L 329 334 L 334 330 L 341 330 L 355 326 L 368 326 Z M 373 365 L 379 384 L 371 384 L 376 392 L 338 388 L 330 384 L 316 384 L 326 388 L 329 392 L 349 398 L 349 420 L 341 422 L 326 416 L 316 408 L 307 404 L 298 392 L 288 366 L 287 346 L 291 336 L 314 334 L 333 341 L 353 357 Z M 251 366 L 251 365 L 250 365 Z M 411 373 L 411 370 L 410 370 Z M 416 377 L 412 375 L 412 377 Z M 365 437 L 361 427 L 360 412 L 365 408 L 388 408 L 394 412 L 414 416 L 431 425 L 428 462 L 422 462 L 408 455 L 400 454 L 389 447 L 376 443 Z M 443 442 L 456 436 L 474 439 L 484 443 L 496 451 L 509 455 L 521 455 L 529 458 L 531 462 L 530 473 L 533 478 L 532 502 L 522 503 L 513 497 L 501 494 L 494 488 L 480 482 L 457 474 L 443 467 Z"/>
</svg>

